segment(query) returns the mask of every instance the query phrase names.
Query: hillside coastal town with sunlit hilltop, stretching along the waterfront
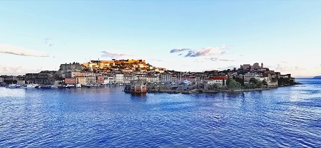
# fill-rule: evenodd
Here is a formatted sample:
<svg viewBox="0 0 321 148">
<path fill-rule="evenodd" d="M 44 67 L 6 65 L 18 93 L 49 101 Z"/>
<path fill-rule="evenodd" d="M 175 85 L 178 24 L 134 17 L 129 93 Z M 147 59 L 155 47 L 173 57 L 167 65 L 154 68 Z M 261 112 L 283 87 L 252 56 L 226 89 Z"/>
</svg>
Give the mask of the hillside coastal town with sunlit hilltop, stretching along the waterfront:
<svg viewBox="0 0 321 148">
<path fill-rule="evenodd" d="M 131 80 L 145 80 L 149 84 L 189 84 L 188 89 L 202 88 L 203 90 L 238 90 L 257 88 L 276 88 L 283 85 L 295 84 L 295 78 L 290 74 L 265 68 L 263 63 L 240 65 L 240 68 L 228 70 L 208 70 L 204 72 L 180 72 L 158 68 L 145 60 L 91 60 L 88 63 L 64 63 L 59 70 L 43 70 L 40 73 L 26 75 L 1 75 L 2 85 L 17 83 L 54 85 L 99 86 L 126 85 Z M 155 90 L 156 86 L 151 87 Z M 159 87 L 159 86 L 158 86 Z M 164 88 L 163 90 L 174 90 Z M 185 88 L 184 88 L 185 89 Z M 158 91 L 160 89 L 158 88 Z M 185 89 L 186 90 L 186 89 Z"/>
</svg>

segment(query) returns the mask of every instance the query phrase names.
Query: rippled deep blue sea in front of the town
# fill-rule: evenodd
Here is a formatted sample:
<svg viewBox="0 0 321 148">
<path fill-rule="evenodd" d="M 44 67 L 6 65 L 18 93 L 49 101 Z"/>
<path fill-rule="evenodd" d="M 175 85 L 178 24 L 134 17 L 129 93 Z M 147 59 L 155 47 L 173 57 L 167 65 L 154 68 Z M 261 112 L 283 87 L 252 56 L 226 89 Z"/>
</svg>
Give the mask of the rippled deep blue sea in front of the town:
<svg viewBox="0 0 321 148">
<path fill-rule="evenodd" d="M 245 93 L 0 88 L 0 147 L 321 147 L 321 80 Z"/>
</svg>

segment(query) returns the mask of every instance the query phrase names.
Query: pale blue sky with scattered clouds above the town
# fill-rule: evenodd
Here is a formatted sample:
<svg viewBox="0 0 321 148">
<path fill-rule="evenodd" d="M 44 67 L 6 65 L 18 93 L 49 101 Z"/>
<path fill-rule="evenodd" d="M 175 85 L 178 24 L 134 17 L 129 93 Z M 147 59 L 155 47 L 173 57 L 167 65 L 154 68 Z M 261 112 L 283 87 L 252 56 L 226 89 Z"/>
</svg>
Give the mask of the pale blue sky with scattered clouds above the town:
<svg viewBox="0 0 321 148">
<path fill-rule="evenodd" d="M 0 1 L 0 75 L 145 59 L 202 72 L 321 75 L 321 1 Z"/>
</svg>

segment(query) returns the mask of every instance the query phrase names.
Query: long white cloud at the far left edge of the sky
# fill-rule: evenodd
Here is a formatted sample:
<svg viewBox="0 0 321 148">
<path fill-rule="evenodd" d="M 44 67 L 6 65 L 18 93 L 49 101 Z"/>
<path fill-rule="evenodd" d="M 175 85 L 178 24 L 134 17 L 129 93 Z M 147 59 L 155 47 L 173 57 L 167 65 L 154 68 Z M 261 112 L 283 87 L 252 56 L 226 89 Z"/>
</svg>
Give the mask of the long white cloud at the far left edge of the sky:
<svg viewBox="0 0 321 148">
<path fill-rule="evenodd" d="M 0 44 L 0 53 L 8 53 L 18 56 L 49 57 L 46 53 L 41 51 L 6 44 Z"/>
</svg>

